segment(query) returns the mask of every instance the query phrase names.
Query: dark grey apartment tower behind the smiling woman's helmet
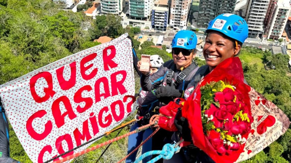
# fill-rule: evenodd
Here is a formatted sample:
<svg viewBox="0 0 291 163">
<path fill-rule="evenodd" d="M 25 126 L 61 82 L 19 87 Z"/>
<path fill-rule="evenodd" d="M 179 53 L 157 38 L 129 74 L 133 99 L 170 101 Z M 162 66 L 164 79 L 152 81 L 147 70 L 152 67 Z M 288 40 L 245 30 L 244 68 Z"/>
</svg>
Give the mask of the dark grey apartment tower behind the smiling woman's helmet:
<svg viewBox="0 0 291 163">
<path fill-rule="evenodd" d="M 208 23 L 223 13 L 233 13 L 237 0 L 200 0 L 197 26 L 206 28 Z"/>
</svg>

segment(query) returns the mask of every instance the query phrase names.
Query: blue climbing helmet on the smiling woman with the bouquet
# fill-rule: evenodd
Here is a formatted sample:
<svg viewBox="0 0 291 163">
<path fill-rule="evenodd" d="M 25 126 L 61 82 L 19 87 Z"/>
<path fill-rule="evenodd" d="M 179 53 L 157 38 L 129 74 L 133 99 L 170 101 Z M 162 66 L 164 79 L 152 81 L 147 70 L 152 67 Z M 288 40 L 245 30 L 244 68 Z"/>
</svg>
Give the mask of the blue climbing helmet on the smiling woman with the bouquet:
<svg viewBox="0 0 291 163">
<path fill-rule="evenodd" d="M 209 22 L 206 32 L 216 30 L 241 43 L 248 38 L 249 28 L 246 21 L 235 14 L 221 14 Z"/>
</svg>

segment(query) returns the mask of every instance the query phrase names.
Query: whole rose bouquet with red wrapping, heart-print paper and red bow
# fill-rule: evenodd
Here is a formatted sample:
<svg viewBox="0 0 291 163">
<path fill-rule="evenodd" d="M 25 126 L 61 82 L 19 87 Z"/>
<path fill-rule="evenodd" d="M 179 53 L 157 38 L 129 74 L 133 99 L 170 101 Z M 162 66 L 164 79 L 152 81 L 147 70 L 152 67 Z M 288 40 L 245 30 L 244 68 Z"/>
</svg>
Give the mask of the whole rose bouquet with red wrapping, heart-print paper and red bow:
<svg viewBox="0 0 291 163">
<path fill-rule="evenodd" d="M 159 126 L 175 131 L 173 117 L 182 108 L 192 141 L 215 162 L 240 162 L 262 151 L 285 133 L 288 117 L 272 102 L 244 83 L 238 57 L 221 62 L 196 86 L 187 101 L 169 103 L 171 113 Z M 169 114 L 170 115 L 170 114 Z"/>
</svg>

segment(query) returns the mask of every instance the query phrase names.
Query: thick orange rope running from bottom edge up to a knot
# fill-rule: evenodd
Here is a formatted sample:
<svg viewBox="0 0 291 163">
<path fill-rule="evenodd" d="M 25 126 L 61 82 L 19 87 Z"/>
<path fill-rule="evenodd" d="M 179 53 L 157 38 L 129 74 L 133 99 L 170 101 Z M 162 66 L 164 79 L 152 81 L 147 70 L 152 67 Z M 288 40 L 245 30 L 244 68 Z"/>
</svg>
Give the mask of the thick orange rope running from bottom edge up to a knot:
<svg viewBox="0 0 291 163">
<path fill-rule="evenodd" d="M 159 119 L 159 115 L 157 115 L 157 116 L 153 115 L 153 116 L 150 118 L 150 123 L 147 124 L 147 125 L 145 125 L 145 126 L 141 126 L 141 127 L 137 128 L 136 130 L 134 130 L 134 131 L 132 131 L 132 132 L 126 133 L 126 134 L 121 135 L 121 136 L 118 136 L 118 137 L 116 137 L 116 138 L 114 138 L 114 139 L 108 140 L 107 142 L 103 142 L 103 143 L 101 143 L 101 144 L 97 144 L 96 146 L 93 146 L 93 147 L 91 147 L 91 148 L 87 148 L 87 149 L 85 149 L 85 150 L 83 150 L 83 151 L 80 151 L 80 152 L 78 152 L 78 153 L 74 153 L 74 154 L 72 154 L 72 155 L 69 155 L 69 156 L 67 156 L 67 157 L 65 157 L 65 158 L 63 158 L 63 159 L 61 159 L 61 160 L 57 160 L 57 161 L 55 161 L 55 162 L 53 162 L 53 163 L 62 163 L 62 162 L 65 162 L 65 161 L 71 160 L 71 159 L 73 159 L 73 158 L 75 158 L 75 157 L 79 157 L 80 155 L 84 155 L 85 153 L 88 153 L 88 152 L 90 152 L 90 151 L 93 151 L 93 150 L 95 150 L 95 149 L 97 149 L 97 148 L 100 148 L 100 147 L 102 147 L 102 146 L 105 146 L 105 145 L 107 145 L 107 144 L 110 144 L 110 143 L 112 143 L 112 142 L 115 142 L 115 141 L 117 141 L 117 140 L 120 140 L 120 139 L 122 139 L 122 138 L 124 138 L 124 137 L 127 137 L 127 136 L 129 136 L 129 135 L 132 135 L 132 134 L 137 133 L 137 132 L 139 132 L 139 131 L 145 130 L 146 128 L 149 128 L 150 126 L 155 125 L 155 124 L 157 123 L 158 119 Z"/>
</svg>

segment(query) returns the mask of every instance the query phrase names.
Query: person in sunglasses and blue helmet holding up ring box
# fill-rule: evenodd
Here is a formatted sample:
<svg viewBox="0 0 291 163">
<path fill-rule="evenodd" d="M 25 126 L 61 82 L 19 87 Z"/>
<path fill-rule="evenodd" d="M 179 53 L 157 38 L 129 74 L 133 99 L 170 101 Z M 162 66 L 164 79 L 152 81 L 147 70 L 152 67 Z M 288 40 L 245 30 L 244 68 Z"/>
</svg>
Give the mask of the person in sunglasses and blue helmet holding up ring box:
<svg viewBox="0 0 291 163">
<path fill-rule="evenodd" d="M 167 104 L 171 99 L 182 97 L 185 88 L 198 70 L 193 62 L 196 55 L 197 37 L 193 31 L 181 30 L 172 40 L 173 60 L 167 61 L 159 70 L 150 76 L 141 71 L 141 88 L 144 91 L 155 91 L 160 102 Z M 140 68 L 141 61 L 137 67 Z"/>
</svg>

